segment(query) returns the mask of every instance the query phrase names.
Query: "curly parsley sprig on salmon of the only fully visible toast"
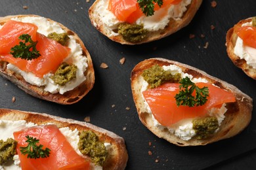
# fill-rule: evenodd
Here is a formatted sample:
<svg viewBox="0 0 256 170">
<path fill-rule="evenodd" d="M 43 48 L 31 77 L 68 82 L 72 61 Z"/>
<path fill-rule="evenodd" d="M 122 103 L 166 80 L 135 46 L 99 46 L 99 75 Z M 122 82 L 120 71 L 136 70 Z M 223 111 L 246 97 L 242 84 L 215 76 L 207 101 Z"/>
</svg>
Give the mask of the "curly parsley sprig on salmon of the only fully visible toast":
<svg viewBox="0 0 256 170">
<path fill-rule="evenodd" d="M 181 79 L 181 85 L 179 86 L 180 92 L 175 95 L 177 106 L 194 107 L 202 106 L 207 101 L 209 96 L 209 89 L 207 87 L 199 88 L 186 76 Z M 192 93 L 196 90 L 196 97 Z"/>
</svg>

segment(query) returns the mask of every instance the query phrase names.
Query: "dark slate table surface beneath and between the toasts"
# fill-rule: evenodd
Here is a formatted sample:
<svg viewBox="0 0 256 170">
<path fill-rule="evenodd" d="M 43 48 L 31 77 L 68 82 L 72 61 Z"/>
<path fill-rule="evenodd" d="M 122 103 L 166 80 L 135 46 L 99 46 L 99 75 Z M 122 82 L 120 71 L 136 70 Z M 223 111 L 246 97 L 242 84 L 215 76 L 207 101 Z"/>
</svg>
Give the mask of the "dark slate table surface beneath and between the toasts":
<svg viewBox="0 0 256 170">
<path fill-rule="evenodd" d="M 114 131 L 125 139 L 129 153 L 126 169 L 256 169 L 255 107 L 251 123 L 236 137 L 207 146 L 179 147 L 159 139 L 141 124 L 130 85 L 131 70 L 137 63 L 159 57 L 198 67 L 256 99 L 256 81 L 233 65 L 225 46 L 226 31 L 239 20 L 256 15 L 256 1 L 217 1 L 217 7 L 213 8 L 211 0 L 205 0 L 187 27 L 160 41 L 137 46 L 121 45 L 98 33 L 87 12 L 93 2 L 0 1 L 0 16 L 37 14 L 75 31 L 93 58 L 96 78 L 93 90 L 74 105 L 42 101 L 0 78 L 0 107 L 45 112 L 80 121 L 90 116 L 92 124 Z M 211 29 L 211 25 L 215 29 Z M 190 34 L 195 37 L 190 39 Z M 203 48 L 206 42 L 209 46 Z M 126 59 L 123 65 L 119 64 L 121 58 Z M 103 62 L 108 69 L 100 68 Z M 16 98 L 15 102 L 12 97 Z"/>
</svg>

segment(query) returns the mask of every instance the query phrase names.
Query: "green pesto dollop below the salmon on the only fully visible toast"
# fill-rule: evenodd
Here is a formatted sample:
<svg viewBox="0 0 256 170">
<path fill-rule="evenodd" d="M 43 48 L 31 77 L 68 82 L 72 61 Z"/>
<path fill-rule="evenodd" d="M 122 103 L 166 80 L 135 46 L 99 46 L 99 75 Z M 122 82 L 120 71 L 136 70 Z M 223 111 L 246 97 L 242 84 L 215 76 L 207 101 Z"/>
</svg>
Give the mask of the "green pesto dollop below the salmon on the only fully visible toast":
<svg viewBox="0 0 256 170">
<path fill-rule="evenodd" d="M 197 139 L 204 139 L 212 135 L 219 127 L 218 120 L 214 116 L 192 120 L 193 129 Z"/>
</svg>

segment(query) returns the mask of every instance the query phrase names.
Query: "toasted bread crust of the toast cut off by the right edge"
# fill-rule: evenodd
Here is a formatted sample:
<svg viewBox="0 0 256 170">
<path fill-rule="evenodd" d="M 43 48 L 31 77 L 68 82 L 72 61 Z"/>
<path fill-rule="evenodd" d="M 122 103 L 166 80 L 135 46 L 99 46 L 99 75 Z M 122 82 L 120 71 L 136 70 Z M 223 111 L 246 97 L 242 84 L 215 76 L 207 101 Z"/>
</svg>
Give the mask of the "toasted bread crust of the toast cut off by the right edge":
<svg viewBox="0 0 256 170">
<path fill-rule="evenodd" d="M 241 20 L 238 24 L 234 25 L 234 27 L 230 28 L 226 33 L 226 52 L 228 53 L 228 57 L 232 60 L 236 67 L 239 67 L 244 71 L 244 73 L 251 78 L 256 80 L 256 69 L 253 69 L 250 65 L 247 65 L 245 59 L 240 59 L 239 56 L 234 54 L 234 47 L 236 46 L 236 40 L 238 39 L 238 35 L 235 33 L 236 27 L 241 27 L 242 24 L 247 22 L 251 22 L 252 18 L 247 18 L 245 20 Z"/>
</svg>

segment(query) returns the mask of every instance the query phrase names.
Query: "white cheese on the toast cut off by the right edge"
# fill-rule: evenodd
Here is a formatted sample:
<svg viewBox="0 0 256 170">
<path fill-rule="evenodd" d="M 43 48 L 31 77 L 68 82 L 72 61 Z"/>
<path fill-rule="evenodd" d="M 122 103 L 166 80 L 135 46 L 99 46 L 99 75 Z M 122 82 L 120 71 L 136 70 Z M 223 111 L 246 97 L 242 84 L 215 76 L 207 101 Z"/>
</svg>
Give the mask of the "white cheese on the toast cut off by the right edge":
<svg viewBox="0 0 256 170">
<path fill-rule="evenodd" d="M 247 22 L 243 24 L 245 25 L 252 25 L 252 22 Z M 253 69 L 256 69 L 256 48 L 253 48 L 251 46 L 246 46 L 240 37 L 236 40 L 236 45 L 234 47 L 234 54 L 238 56 L 240 59 L 245 59 L 247 65 L 250 65 L 253 67 Z"/>
</svg>

